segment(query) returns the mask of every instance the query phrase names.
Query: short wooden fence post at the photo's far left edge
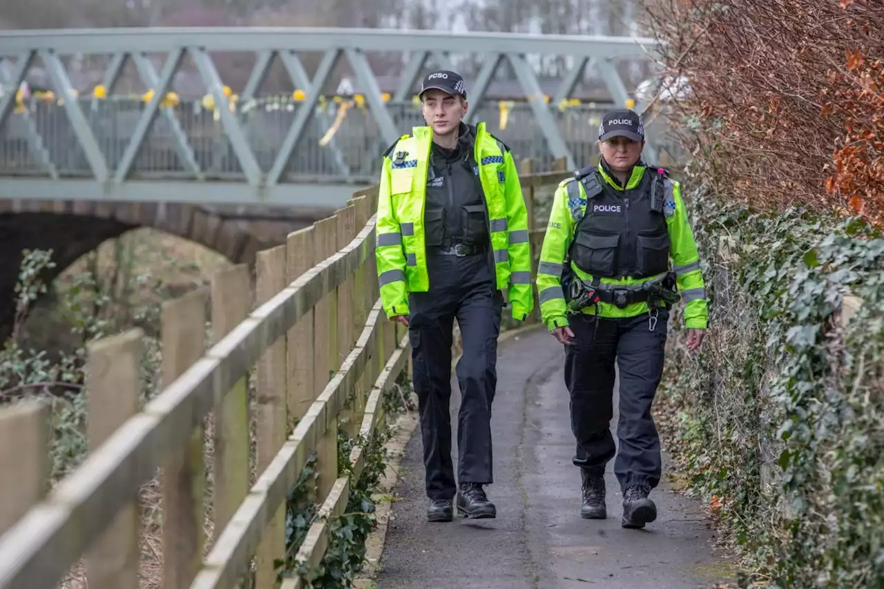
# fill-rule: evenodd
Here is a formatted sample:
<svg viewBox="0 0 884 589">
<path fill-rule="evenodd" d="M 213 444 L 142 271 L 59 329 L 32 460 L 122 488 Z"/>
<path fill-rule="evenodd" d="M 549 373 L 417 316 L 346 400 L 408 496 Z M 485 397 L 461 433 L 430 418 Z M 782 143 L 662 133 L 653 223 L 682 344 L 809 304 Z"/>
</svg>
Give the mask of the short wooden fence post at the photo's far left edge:
<svg viewBox="0 0 884 589">
<path fill-rule="evenodd" d="M 0 409 L 0 536 L 49 490 L 51 435 L 45 404 Z"/>
</svg>

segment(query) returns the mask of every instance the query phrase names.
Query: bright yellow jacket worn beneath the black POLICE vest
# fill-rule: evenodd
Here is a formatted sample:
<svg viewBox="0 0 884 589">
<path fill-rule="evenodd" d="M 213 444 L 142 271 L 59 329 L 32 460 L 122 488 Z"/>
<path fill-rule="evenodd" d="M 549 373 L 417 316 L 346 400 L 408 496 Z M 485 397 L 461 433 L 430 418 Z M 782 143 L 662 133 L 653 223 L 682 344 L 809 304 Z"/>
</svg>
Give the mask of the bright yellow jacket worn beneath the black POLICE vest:
<svg viewBox="0 0 884 589">
<path fill-rule="evenodd" d="M 646 168 L 643 165 L 636 165 L 625 188 L 605 172 L 604 166 L 600 162 L 598 172 L 602 180 L 610 187 L 623 191 L 637 187 L 646 173 Z M 568 184 L 571 182 L 576 182 L 576 186 L 579 187 L 579 203 L 569 202 L 573 200 L 568 197 Z M 694 241 L 688 222 L 688 214 L 682 201 L 681 186 L 669 178 L 665 180 L 664 185 L 666 189 L 664 212 L 670 241 L 669 257 L 682 301 L 686 302 L 684 325 L 687 328 L 705 329 L 708 317 L 705 283 L 703 273 L 700 271 L 697 244 Z M 570 178 L 559 184 L 553 196 L 549 225 L 546 228 L 544 244 L 540 251 L 540 261 L 537 266 L 537 298 L 540 302 L 540 315 L 550 330 L 568 325 L 568 309 L 561 286 L 561 274 L 568 249 L 574 239 L 577 222 L 583 218 L 586 206 L 587 195 L 580 181 Z M 592 281 L 593 277 L 583 272 L 573 261 L 570 267 L 575 276 L 587 282 Z M 601 285 L 633 286 L 640 285 L 646 280 L 658 279 L 663 275 L 665 272 L 642 279 L 629 276 L 600 278 L 599 282 Z M 582 309 L 581 312 L 598 314 L 599 317 L 635 317 L 648 312 L 648 304 L 647 302 L 634 302 L 621 309 L 610 302 L 598 302 L 596 305 Z"/>
</svg>

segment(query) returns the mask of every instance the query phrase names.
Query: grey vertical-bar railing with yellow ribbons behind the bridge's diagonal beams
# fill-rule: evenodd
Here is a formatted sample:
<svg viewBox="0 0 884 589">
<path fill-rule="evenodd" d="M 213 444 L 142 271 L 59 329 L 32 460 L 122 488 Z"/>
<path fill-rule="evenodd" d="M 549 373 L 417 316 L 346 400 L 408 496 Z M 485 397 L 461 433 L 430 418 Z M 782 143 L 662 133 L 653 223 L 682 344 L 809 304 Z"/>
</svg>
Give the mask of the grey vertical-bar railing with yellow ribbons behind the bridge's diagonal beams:
<svg viewBox="0 0 884 589">
<path fill-rule="evenodd" d="M 138 98 L 109 96 L 102 100 L 80 97 L 80 109 L 87 113 L 95 142 L 108 168 L 117 172 L 126 148 L 145 108 Z M 253 106 L 252 103 L 257 103 Z M 385 103 L 397 129 L 423 125 L 419 106 Z M 304 104 L 293 99 L 253 99 L 233 103 L 230 109 L 240 119 L 248 149 L 263 171 L 269 171 L 284 148 L 286 129 Z M 598 119 L 609 103 L 581 104 L 550 109 L 562 139 L 575 161 L 583 162 L 598 153 Z M 91 180 L 87 152 L 80 144 L 65 107 L 57 100 L 32 97 L 22 111 L 12 111 L 5 126 L 0 124 L 0 176 L 19 179 Z M 470 104 L 475 120 L 513 150 L 517 160 L 530 157 L 545 166 L 554 159 L 536 117 L 528 103 L 484 101 Z M 217 119 L 217 107 L 207 109 L 199 101 L 182 101 L 161 107 L 160 114 L 128 169 L 128 180 L 205 180 L 245 182 L 242 165 Z M 649 133 L 654 133 L 652 126 Z M 182 157 L 179 139 L 187 142 L 188 160 Z M 366 185 L 377 180 L 380 159 L 389 143 L 365 106 L 325 103 L 316 106 L 279 177 L 281 183 L 340 181 Z M 196 172 L 196 171 L 199 172 Z"/>
</svg>

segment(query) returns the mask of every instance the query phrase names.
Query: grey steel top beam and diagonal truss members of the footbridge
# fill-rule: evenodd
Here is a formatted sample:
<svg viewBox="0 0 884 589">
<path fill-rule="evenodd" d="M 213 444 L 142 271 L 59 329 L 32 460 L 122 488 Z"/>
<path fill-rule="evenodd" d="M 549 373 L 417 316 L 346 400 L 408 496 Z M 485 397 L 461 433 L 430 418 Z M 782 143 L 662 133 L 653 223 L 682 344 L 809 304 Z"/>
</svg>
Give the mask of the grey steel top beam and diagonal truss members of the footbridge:
<svg viewBox="0 0 884 589">
<path fill-rule="evenodd" d="M 408 61 L 403 59 L 404 67 L 397 81 L 392 103 L 402 103 L 423 73 L 429 60 L 436 65 L 450 65 L 451 53 L 468 53 L 484 57 L 484 63 L 475 80 L 468 80 L 469 100 L 471 104 L 479 104 L 490 83 L 501 68 L 507 65 L 512 68 L 515 79 L 522 88 L 526 102 L 537 123 L 539 135 L 545 141 L 552 157 L 565 158 L 568 166 L 577 165 L 572 149 L 566 141 L 563 129 L 553 117 L 553 110 L 560 101 L 570 95 L 575 84 L 580 80 L 588 67 L 597 69 L 600 77 L 612 97 L 613 104 L 624 104 L 629 93 L 618 73 L 616 62 L 623 58 L 648 59 L 659 50 L 657 42 L 647 38 L 608 37 L 589 35 L 560 34 L 499 34 L 469 33 L 452 34 L 438 31 L 401 31 L 386 29 L 330 29 L 330 28 L 284 28 L 284 27 L 169 27 L 144 29 L 65 29 L 65 30 L 28 30 L 0 33 L 0 57 L 17 57 L 12 79 L 7 91 L 0 96 L 0 129 L 4 120 L 11 118 L 15 104 L 15 89 L 25 80 L 28 69 L 39 59 L 42 61 L 51 85 L 57 96 L 62 99 L 65 119 L 69 124 L 72 136 L 82 160 L 86 164 L 89 180 L 81 177 L 76 180 L 78 187 L 72 190 L 72 198 L 78 195 L 93 195 L 97 200 L 141 200 L 144 191 L 133 187 L 133 168 L 143 148 L 146 138 L 156 127 L 157 119 L 163 119 L 169 129 L 174 151 L 188 174 L 189 182 L 177 181 L 176 187 L 182 194 L 175 200 L 187 202 L 224 202 L 231 203 L 278 203 L 301 204 L 301 196 L 307 198 L 303 188 L 294 189 L 291 174 L 286 170 L 290 166 L 296 146 L 302 142 L 309 125 L 322 119 L 321 126 L 329 131 L 324 146 L 330 150 L 333 165 L 343 177 L 350 177 L 362 171 L 354 171 L 352 163 L 343 155 L 346 145 L 336 144 L 334 123 L 323 119 L 326 114 L 318 112 L 323 88 L 330 79 L 331 72 L 341 61 L 346 61 L 353 71 L 368 106 L 374 125 L 377 126 L 378 139 L 389 144 L 408 128 L 397 126 L 391 111 L 391 104 L 384 98 L 375 73 L 372 72 L 367 54 L 372 51 L 402 52 L 408 54 Z M 210 51 L 224 52 L 255 52 L 255 65 L 248 82 L 240 96 L 240 102 L 230 106 L 230 98 L 220 79 Z M 323 52 L 324 57 L 316 68 L 312 79 L 298 56 L 299 52 Z M 164 65 L 157 73 L 148 53 L 165 53 Z M 88 109 L 84 110 L 83 99 L 75 93 L 65 65 L 63 55 L 95 55 L 111 56 L 110 65 L 105 72 L 103 86 L 110 95 L 126 61 L 132 60 L 138 76 L 146 88 L 154 90 L 145 104 L 141 115 L 128 137 L 126 148 L 120 157 L 111 157 L 103 142 L 95 133 L 95 121 Z M 552 101 L 547 103 L 537 73 L 530 65 L 530 56 L 555 55 L 568 57 L 573 66 L 564 79 L 560 80 Z M 201 164 L 200 157 L 194 151 L 193 141 L 188 140 L 187 132 L 182 128 L 174 111 L 164 106 L 167 93 L 173 88 L 173 80 L 182 63 L 190 59 L 209 95 L 216 105 L 217 118 L 223 129 L 223 137 L 216 142 L 214 157 L 210 164 Z M 288 126 L 277 149 L 272 149 L 270 161 L 259 161 L 255 149 L 250 145 L 247 132 L 245 109 L 237 104 L 246 104 L 255 99 L 262 81 L 266 77 L 272 62 L 278 58 L 284 66 L 288 77 L 295 88 L 300 88 L 304 96 L 294 112 L 293 120 Z M 477 108 L 471 109 L 468 122 L 473 121 Z M 33 120 L 28 119 L 27 112 L 17 113 L 24 124 L 28 137 L 28 149 L 34 153 L 34 159 L 42 164 L 44 176 L 40 180 L 67 180 L 70 174 L 59 171 L 60 166 L 53 162 L 50 149 L 36 130 Z M 321 142 L 322 143 L 322 142 Z M 229 146 L 230 149 L 227 149 Z M 371 150 L 371 149 L 369 149 Z M 379 149 L 377 149 L 379 155 Z M 225 155 L 225 153 L 227 155 Z M 654 146 L 649 142 L 646 154 L 652 161 L 656 159 Z M 217 180 L 217 172 L 225 157 L 233 160 L 242 174 L 242 180 L 248 187 L 239 184 L 239 191 L 226 189 L 214 190 L 210 184 Z M 111 161 L 116 159 L 116 161 Z M 364 166 L 363 166 L 364 168 Z M 0 178 L 11 180 L 12 174 L 0 169 Z M 17 177 L 16 198 L 52 198 L 57 194 L 37 195 L 37 190 L 44 190 L 47 183 L 34 179 L 32 176 Z M 168 179 L 166 179 L 168 180 Z M 149 180 L 144 180 L 149 182 Z M 94 189 L 84 187 L 90 184 Z M 65 182 L 62 182 L 64 184 Z M 73 184 L 71 184 L 73 187 Z M 31 187 L 31 188 L 28 188 Z M 157 184 L 156 187 L 159 187 Z M 237 196 L 232 196 L 237 194 Z M 168 193 L 166 193 L 168 195 Z M 2 195 L 0 195 L 2 196 Z M 233 201 L 232 201 L 233 199 Z M 309 199 L 308 200 L 315 200 Z"/>
</svg>

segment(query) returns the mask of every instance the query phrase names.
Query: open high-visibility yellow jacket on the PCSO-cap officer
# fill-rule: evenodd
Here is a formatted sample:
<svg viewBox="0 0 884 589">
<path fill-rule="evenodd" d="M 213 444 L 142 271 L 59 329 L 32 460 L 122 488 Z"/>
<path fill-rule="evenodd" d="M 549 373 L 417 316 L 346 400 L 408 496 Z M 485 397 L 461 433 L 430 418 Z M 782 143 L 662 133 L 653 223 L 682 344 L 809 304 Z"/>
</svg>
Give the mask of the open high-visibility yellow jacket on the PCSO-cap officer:
<svg viewBox="0 0 884 589">
<path fill-rule="evenodd" d="M 474 157 L 488 211 L 497 287 L 507 290 L 513 317 L 523 321 L 534 309 L 528 211 L 513 156 L 479 123 Z M 415 126 L 384 156 L 377 199 L 377 278 L 387 317 L 408 315 L 408 293 L 427 292 L 423 210 L 432 128 Z M 394 154 L 405 154 L 396 158 Z"/>
</svg>

